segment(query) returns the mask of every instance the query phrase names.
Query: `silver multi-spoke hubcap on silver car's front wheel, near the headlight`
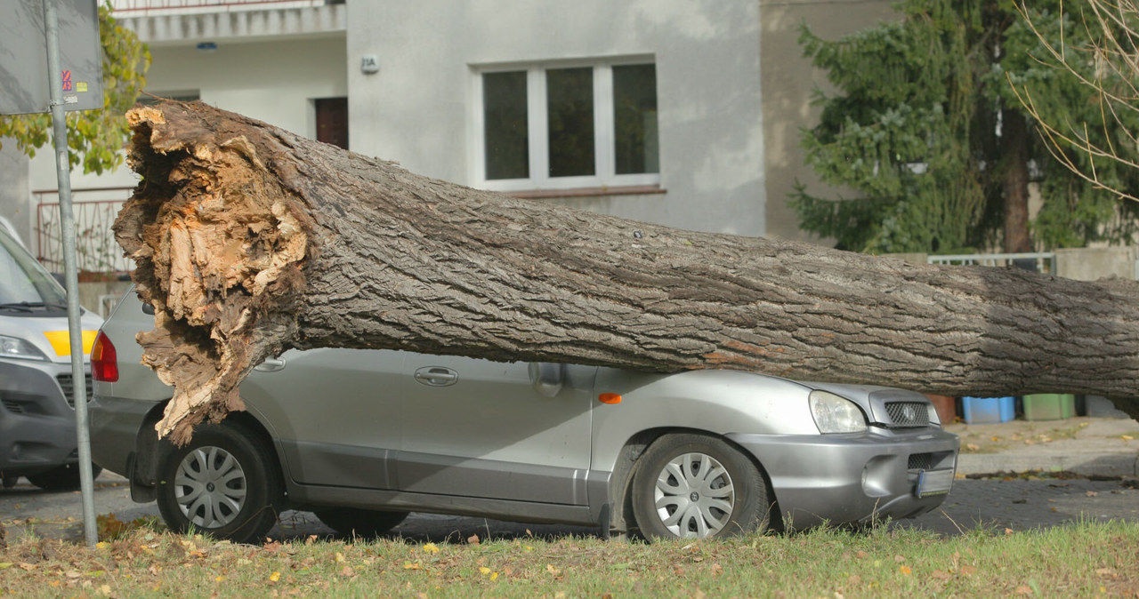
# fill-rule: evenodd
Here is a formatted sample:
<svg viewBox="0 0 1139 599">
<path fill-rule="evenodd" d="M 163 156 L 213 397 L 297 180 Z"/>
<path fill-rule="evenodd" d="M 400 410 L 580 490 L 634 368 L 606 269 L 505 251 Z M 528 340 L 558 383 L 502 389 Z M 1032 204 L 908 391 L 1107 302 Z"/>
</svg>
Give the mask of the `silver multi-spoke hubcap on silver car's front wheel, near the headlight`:
<svg viewBox="0 0 1139 599">
<path fill-rule="evenodd" d="M 656 514 L 677 536 L 720 532 L 731 517 L 736 489 L 728 471 L 706 454 L 685 454 L 664 465 L 654 491 Z"/>
</svg>

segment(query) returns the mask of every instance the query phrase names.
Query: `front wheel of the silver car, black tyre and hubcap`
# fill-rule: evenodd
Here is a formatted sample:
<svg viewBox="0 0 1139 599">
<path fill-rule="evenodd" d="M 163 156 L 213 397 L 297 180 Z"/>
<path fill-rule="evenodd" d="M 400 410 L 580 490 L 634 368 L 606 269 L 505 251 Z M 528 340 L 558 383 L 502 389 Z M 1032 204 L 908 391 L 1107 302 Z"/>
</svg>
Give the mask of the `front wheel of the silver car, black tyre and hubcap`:
<svg viewBox="0 0 1139 599">
<path fill-rule="evenodd" d="M 768 526 L 759 468 L 727 442 L 670 434 L 641 456 L 633 474 L 633 516 L 649 539 L 704 539 Z"/>
</svg>

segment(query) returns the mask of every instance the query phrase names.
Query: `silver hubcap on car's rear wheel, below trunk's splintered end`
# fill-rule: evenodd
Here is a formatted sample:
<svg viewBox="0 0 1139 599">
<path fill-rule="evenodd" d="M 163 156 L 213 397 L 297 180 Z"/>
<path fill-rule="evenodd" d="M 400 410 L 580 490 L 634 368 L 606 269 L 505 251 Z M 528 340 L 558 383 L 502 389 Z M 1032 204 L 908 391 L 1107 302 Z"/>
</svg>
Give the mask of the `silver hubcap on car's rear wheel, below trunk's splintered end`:
<svg viewBox="0 0 1139 599">
<path fill-rule="evenodd" d="M 174 499 L 195 526 L 219 529 L 233 522 L 245 505 L 245 471 L 219 447 L 190 451 L 174 474 Z"/>
</svg>

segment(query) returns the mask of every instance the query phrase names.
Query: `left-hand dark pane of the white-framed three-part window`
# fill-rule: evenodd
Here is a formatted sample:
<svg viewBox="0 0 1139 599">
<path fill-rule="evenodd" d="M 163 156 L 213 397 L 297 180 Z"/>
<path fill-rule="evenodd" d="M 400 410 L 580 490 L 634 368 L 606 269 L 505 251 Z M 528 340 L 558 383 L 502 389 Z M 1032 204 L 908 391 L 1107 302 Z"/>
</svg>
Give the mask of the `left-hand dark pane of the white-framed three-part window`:
<svg viewBox="0 0 1139 599">
<path fill-rule="evenodd" d="M 530 176 L 526 72 L 483 74 L 486 178 Z"/>
</svg>

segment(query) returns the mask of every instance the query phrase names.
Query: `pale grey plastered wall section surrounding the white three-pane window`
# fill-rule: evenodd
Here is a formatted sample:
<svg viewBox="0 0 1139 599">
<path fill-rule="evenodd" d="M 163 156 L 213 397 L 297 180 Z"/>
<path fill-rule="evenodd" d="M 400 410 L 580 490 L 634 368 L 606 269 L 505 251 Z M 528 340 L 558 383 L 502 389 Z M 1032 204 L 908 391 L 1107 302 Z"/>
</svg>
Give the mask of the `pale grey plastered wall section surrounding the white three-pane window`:
<svg viewBox="0 0 1139 599">
<path fill-rule="evenodd" d="M 764 233 L 755 0 L 355 1 L 347 8 L 354 151 L 469 184 L 473 66 L 652 55 L 667 192 L 558 201 L 683 228 Z M 378 74 L 361 74 L 367 53 L 379 57 Z"/>
</svg>

